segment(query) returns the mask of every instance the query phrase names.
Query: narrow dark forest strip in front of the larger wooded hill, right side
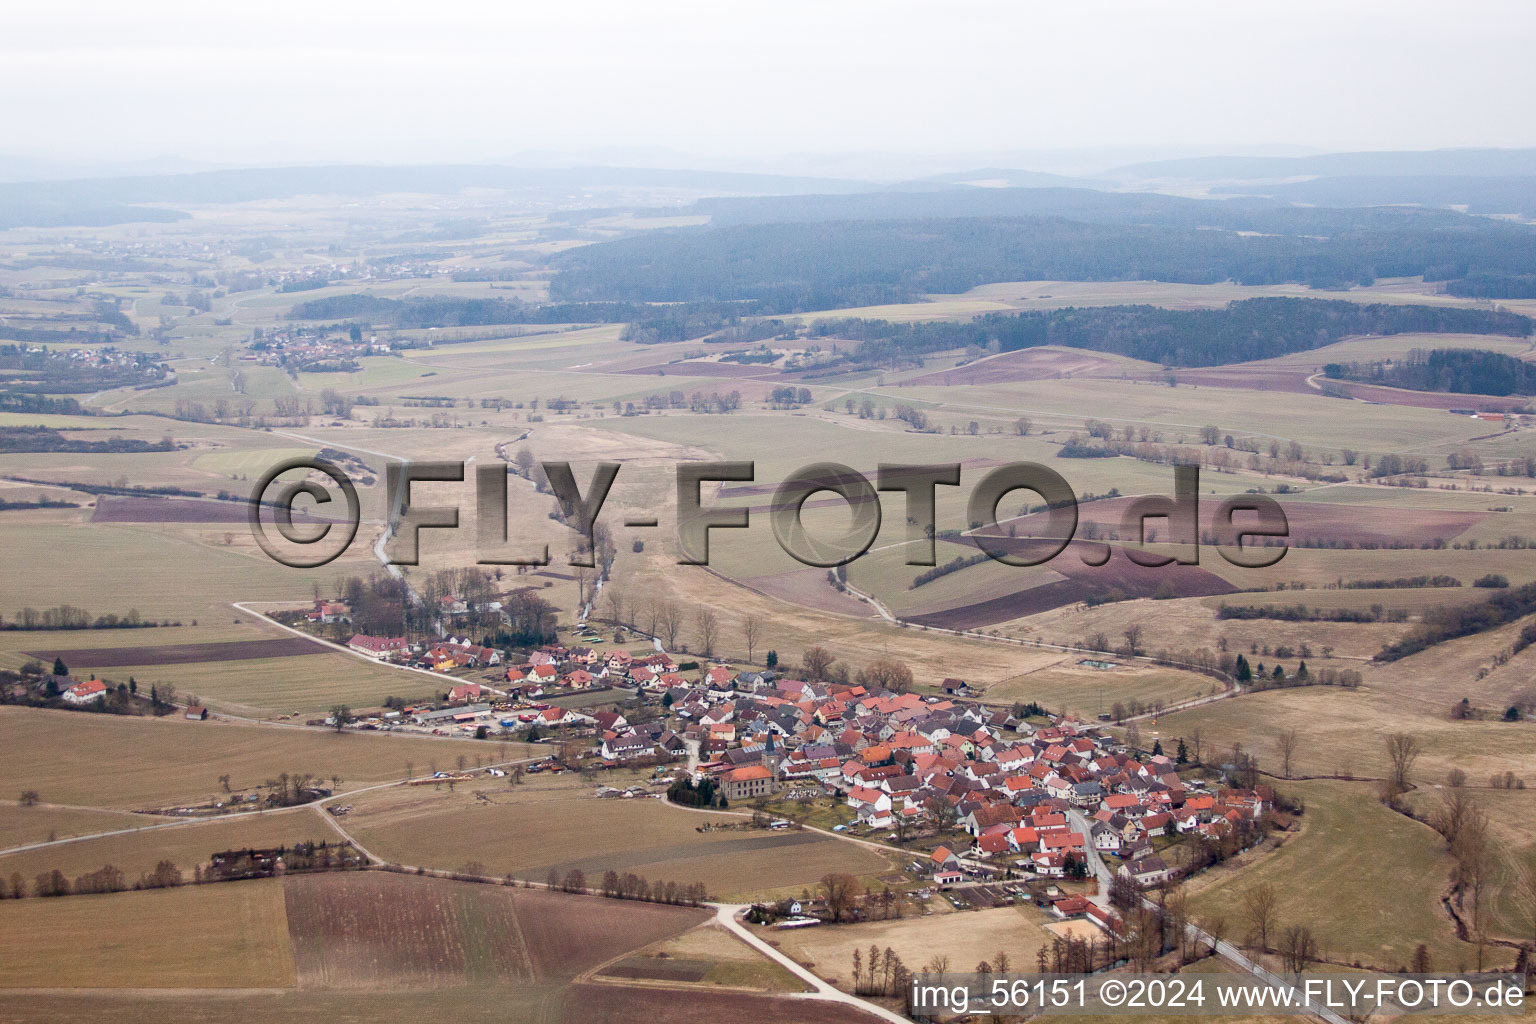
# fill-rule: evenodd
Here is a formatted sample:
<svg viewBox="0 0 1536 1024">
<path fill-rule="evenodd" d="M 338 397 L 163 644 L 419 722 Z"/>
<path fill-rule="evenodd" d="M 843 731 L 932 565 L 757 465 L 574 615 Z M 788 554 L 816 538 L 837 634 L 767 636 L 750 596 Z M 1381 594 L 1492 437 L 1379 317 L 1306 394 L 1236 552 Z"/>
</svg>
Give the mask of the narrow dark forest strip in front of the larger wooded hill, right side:
<svg viewBox="0 0 1536 1024">
<path fill-rule="evenodd" d="M 857 342 L 846 361 L 900 365 L 949 348 L 1014 352 L 1068 345 L 1174 367 L 1221 365 L 1304 352 L 1355 335 L 1531 333 L 1516 313 L 1439 306 L 1366 306 L 1342 299 L 1260 298 L 1213 310 L 1157 306 L 989 313 L 968 322 L 817 321 L 816 333 Z"/>
</svg>

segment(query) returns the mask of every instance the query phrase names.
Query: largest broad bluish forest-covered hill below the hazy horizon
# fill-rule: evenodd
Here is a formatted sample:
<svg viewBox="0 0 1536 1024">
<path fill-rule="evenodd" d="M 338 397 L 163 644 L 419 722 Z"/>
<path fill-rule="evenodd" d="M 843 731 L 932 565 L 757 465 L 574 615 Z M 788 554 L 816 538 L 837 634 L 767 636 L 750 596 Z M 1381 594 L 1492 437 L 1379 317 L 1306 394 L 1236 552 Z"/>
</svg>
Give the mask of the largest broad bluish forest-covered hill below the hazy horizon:
<svg viewBox="0 0 1536 1024">
<path fill-rule="evenodd" d="M 794 313 L 994 281 L 1346 287 L 1393 276 L 1514 275 L 1536 266 L 1536 230 L 1442 213 L 1382 216 L 1375 227 L 1321 238 L 1055 216 L 819 221 L 647 232 L 568 250 L 553 266 L 556 301 L 756 299 L 762 312 Z"/>
</svg>

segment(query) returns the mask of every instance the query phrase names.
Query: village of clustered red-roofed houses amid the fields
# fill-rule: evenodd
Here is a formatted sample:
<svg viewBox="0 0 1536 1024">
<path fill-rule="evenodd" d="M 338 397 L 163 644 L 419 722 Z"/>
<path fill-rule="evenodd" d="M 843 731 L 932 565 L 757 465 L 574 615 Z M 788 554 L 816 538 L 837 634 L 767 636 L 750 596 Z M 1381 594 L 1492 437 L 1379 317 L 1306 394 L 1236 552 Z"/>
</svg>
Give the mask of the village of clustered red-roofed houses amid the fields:
<svg viewBox="0 0 1536 1024">
<path fill-rule="evenodd" d="M 444 602 L 449 617 L 455 599 Z M 316 602 L 310 619 L 343 614 Z M 559 754 L 530 771 L 650 769 L 596 795 L 753 811 L 763 827 L 880 843 L 909 854 L 908 892 L 922 900 L 969 909 L 1029 898 L 1115 938 L 1127 932 L 1126 892 L 1220 863 L 1273 823 L 1275 795 L 1241 752 L 1212 769 L 1183 740 L 1172 755 L 1161 743 L 1141 752 L 1100 722 L 985 705 L 960 679 L 935 680 L 931 694 L 811 682 L 679 660 L 633 639 L 627 649 L 582 625 L 570 642 L 511 656 L 452 634 L 356 634 L 353 652 L 452 685 L 439 700 L 326 725 L 554 743 Z M 611 700 L 599 708 L 598 697 Z M 816 906 L 763 913 L 788 927 L 836 917 Z"/>
</svg>

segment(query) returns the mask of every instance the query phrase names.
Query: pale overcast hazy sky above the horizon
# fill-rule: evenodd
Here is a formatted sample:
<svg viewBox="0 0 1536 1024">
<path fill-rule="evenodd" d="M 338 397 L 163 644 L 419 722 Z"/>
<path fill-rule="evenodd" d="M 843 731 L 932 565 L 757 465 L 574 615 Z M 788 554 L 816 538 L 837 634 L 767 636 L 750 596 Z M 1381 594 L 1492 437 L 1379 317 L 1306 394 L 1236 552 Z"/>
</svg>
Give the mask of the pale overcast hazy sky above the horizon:
<svg viewBox="0 0 1536 1024">
<path fill-rule="evenodd" d="M 23 2 L 0 154 L 1536 146 L 1525 0 Z"/>
</svg>

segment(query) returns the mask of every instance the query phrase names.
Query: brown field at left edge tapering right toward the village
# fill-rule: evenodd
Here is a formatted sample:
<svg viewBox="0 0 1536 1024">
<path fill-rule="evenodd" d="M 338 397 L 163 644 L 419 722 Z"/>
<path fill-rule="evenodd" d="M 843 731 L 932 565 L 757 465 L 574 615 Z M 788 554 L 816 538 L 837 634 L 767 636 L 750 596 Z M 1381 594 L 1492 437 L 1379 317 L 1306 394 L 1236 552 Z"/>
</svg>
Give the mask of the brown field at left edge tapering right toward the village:
<svg viewBox="0 0 1536 1024">
<path fill-rule="evenodd" d="M 456 765 L 461 754 L 472 763 L 501 754 L 499 743 L 14 706 L 0 708 L 0 748 L 17 792 L 35 789 L 48 803 L 129 811 L 209 800 L 223 792 L 218 777 L 226 774 L 233 791 L 281 772 L 339 775 L 346 791 L 404 778 L 407 763 L 415 774 L 429 774 L 433 765 Z M 507 749 L 508 757 L 524 757 L 538 748 Z"/>
</svg>

